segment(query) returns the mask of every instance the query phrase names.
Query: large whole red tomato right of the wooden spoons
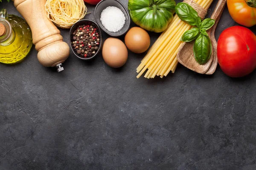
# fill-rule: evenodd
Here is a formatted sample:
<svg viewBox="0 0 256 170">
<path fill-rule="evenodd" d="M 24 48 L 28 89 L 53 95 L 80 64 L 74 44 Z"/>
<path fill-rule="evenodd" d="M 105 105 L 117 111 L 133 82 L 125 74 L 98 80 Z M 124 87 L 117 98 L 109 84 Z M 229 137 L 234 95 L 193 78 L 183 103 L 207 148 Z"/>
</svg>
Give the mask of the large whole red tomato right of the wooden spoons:
<svg viewBox="0 0 256 170">
<path fill-rule="evenodd" d="M 225 74 L 246 76 L 256 68 L 256 36 L 242 26 L 227 28 L 218 39 L 217 55 Z"/>
</svg>

